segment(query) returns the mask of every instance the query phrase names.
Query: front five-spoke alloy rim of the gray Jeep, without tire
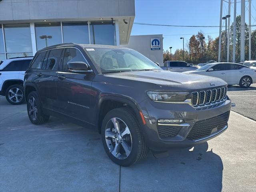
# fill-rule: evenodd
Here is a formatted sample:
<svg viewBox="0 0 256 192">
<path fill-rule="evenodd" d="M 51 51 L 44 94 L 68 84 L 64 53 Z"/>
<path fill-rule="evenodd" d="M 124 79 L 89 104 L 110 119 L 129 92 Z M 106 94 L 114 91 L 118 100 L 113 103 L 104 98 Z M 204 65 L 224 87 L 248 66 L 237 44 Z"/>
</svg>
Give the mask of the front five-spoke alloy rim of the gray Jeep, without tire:
<svg viewBox="0 0 256 192">
<path fill-rule="evenodd" d="M 108 150 L 117 159 L 126 159 L 132 150 L 132 137 L 126 123 L 120 118 L 111 118 L 105 128 Z"/>
</svg>

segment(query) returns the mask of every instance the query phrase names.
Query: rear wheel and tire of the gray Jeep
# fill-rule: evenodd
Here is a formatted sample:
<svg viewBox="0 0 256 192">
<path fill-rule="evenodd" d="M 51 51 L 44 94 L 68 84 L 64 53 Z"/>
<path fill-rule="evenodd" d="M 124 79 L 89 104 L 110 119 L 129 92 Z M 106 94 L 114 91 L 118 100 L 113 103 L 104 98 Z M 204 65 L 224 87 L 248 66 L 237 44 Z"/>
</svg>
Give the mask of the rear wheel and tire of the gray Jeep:
<svg viewBox="0 0 256 192">
<path fill-rule="evenodd" d="M 28 94 L 27 110 L 28 110 L 28 118 L 32 122 L 32 124 L 35 124 L 35 125 L 44 124 L 49 120 L 50 116 L 45 115 L 43 113 L 42 107 L 39 102 L 38 94 L 35 91 Z"/>
</svg>

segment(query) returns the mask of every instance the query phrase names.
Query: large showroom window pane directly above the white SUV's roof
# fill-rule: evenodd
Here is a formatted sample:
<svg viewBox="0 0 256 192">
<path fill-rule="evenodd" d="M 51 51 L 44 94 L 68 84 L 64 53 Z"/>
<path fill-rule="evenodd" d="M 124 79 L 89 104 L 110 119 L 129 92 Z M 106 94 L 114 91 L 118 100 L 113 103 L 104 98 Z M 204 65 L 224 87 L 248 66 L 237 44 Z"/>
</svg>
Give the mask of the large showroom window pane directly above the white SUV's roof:
<svg viewBox="0 0 256 192">
<path fill-rule="evenodd" d="M 6 52 L 32 52 L 29 24 L 4 24 Z"/>
</svg>

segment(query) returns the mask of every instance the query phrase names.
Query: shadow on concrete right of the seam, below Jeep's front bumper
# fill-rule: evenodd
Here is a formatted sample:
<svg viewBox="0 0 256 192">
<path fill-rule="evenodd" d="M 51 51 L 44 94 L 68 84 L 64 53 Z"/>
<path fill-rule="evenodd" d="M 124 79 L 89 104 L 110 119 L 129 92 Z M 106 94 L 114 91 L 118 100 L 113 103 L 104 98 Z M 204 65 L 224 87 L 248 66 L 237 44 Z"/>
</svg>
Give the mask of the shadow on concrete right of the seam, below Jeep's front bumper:
<svg viewBox="0 0 256 192">
<path fill-rule="evenodd" d="M 222 190 L 223 164 L 220 156 L 207 151 L 205 142 L 194 150 L 174 149 L 170 156 L 121 167 L 121 191 L 216 191 Z"/>
</svg>

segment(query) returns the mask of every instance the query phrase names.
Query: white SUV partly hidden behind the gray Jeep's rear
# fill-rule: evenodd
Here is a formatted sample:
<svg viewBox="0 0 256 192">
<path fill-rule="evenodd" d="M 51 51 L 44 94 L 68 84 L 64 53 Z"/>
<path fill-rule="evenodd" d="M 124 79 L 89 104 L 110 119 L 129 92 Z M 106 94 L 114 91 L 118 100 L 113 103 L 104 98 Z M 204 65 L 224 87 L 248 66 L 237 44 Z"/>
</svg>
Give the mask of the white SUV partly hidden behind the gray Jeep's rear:
<svg viewBox="0 0 256 192">
<path fill-rule="evenodd" d="M 32 58 L 10 58 L 0 64 L 0 95 L 5 96 L 10 104 L 24 102 L 23 79 Z"/>
</svg>

